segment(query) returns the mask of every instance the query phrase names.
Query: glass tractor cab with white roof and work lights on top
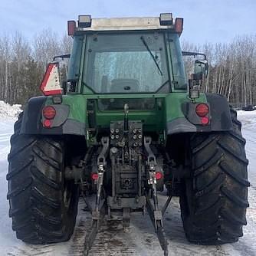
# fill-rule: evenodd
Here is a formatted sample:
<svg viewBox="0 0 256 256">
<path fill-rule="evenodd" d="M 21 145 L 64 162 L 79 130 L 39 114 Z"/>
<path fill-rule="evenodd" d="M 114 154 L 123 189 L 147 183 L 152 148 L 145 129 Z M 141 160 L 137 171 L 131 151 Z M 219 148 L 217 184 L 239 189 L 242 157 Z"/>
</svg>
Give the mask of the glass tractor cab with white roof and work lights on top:
<svg viewBox="0 0 256 256">
<path fill-rule="evenodd" d="M 86 21 L 86 22 L 85 22 Z M 74 48 L 67 91 L 160 94 L 186 90 L 179 46 L 182 18 L 96 18 L 68 21 Z"/>
</svg>

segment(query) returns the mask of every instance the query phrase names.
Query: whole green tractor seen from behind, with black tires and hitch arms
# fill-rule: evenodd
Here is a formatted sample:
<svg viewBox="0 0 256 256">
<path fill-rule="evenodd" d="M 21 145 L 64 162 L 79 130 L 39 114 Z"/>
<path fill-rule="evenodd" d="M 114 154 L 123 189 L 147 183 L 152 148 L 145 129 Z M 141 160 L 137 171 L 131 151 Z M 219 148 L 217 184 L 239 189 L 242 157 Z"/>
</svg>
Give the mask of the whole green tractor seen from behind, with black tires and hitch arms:
<svg viewBox="0 0 256 256">
<path fill-rule="evenodd" d="M 80 15 L 67 27 L 67 81 L 49 64 L 44 96 L 28 100 L 11 136 L 7 198 L 17 238 L 67 241 L 82 196 L 92 216 L 85 254 L 104 217 L 127 227 L 134 212 L 148 212 L 167 255 L 163 215 L 178 195 L 189 241 L 238 241 L 248 208 L 245 139 L 226 98 L 200 92 L 208 64 L 182 52 L 183 19 Z M 182 55 L 197 57 L 189 80 Z"/>
</svg>

